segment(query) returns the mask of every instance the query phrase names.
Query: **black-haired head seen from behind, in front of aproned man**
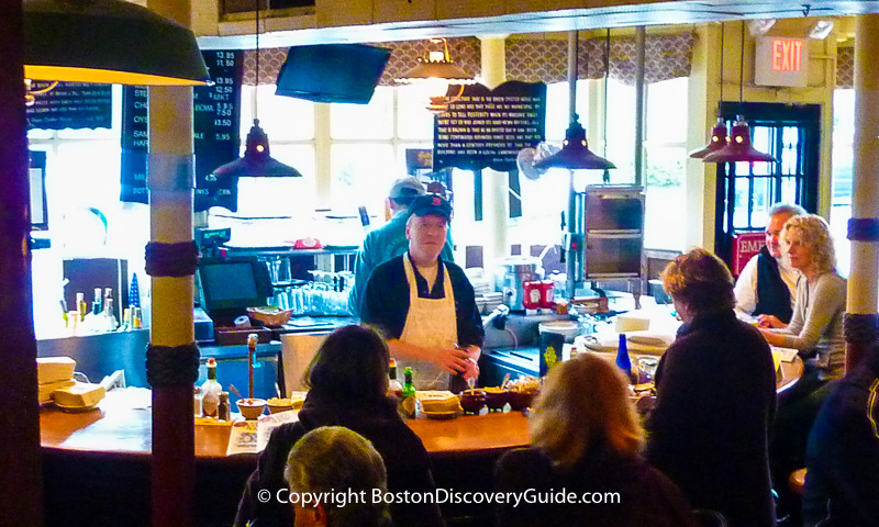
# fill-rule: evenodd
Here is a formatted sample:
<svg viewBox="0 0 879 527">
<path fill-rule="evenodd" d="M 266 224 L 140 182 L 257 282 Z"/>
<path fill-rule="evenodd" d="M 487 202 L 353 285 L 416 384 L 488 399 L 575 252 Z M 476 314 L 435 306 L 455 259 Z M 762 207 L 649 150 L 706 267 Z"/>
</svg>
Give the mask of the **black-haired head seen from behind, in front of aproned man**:
<svg viewBox="0 0 879 527">
<path fill-rule="evenodd" d="M 345 326 L 331 333 L 305 370 L 305 385 L 335 397 L 369 401 L 388 391 L 388 346 L 372 329 Z"/>
</svg>

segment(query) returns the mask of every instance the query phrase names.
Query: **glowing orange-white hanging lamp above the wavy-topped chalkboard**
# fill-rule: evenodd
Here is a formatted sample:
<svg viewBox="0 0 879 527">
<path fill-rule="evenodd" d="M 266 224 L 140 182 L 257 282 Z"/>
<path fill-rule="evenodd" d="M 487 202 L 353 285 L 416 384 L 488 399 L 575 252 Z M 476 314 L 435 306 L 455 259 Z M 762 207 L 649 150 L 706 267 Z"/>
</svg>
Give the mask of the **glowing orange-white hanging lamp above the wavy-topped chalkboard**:
<svg viewBox="0 0 879 527">
<path fill-rule="evenodd" d="M 425 98 L 430 99 L 427 110 L 441 114 L 448 110 L 448 105 L 460 99 L 465 85 L 475 85 L 472 75 L 455 66 L 448 54 L 448 41 L 443 37 L 431 38 L 432 44 L 443 44 L 442 49 L 429 51 L 425 58 L 419 58 L 419 64 L 394 79 L 401 85 L 413 85 L 422 88 Z M 457 86 L 456 94 L 448 94 L 449 88 Z"/>
</svg>

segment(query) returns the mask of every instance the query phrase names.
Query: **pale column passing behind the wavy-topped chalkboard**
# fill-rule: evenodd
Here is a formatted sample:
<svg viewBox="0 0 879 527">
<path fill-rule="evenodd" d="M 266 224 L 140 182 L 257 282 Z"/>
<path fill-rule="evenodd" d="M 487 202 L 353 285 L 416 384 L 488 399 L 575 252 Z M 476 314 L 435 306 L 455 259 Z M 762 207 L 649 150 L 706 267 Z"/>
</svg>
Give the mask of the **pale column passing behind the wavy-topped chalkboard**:
<svg viewBox="0 0 879 527">
<path fill-rule="evenodd" d="M 505 36 L 481 36 L 482 82 L 489 88 L 497 88 L 507 80 Z M 482 267 L 489 276 L 494 272 L 494 261 L 510 255 L 510 243 L 507 227 L 510 218 L 510 180 L 507 172 L 490 168 L 482 170 L 482 223 L 485 239 L 482 249 Z"/>
</svg>

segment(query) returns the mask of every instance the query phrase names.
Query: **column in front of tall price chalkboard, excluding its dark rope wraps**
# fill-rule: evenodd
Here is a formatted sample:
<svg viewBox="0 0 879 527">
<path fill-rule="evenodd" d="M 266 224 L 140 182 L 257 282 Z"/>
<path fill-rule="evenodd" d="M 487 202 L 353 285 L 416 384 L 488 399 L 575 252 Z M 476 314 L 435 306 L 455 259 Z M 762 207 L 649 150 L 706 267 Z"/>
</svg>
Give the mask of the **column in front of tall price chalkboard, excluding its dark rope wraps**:
<svg viewBox="0 0 879 527">
<path fill-rule="evenodd" d="M 190 25 L 189 1 L 149 0 L 148 8 Z M 148 45 L 148 43 L 144 43 Z M 192 88 L 149 88 L 149 238 L 192 240 Z M 151 346 L 194 341 L 192 276 L 152 278 Z M 194 379 L 193 379 L 194 381 Z M 192 385 L 153 385 L 152 511 L 157 527 L 194 525 Z"/>
</svg>

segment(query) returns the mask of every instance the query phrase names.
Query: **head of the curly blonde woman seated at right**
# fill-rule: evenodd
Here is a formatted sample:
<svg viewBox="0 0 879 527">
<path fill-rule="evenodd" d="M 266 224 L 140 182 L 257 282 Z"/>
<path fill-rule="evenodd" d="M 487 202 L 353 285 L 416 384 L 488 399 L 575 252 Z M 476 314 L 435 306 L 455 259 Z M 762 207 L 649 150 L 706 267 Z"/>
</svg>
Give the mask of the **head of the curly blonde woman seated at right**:
<svg viewBox="0 0 879 527">
<path fill-rule="evenodd" d="M 781 245 L 790 265 L 803 273 L 822 274 L 836 269 L 833 236 L 823 217 L 815 214 L 793 216 L 781 229 Z"/>
</svg>

